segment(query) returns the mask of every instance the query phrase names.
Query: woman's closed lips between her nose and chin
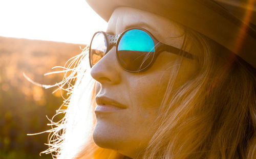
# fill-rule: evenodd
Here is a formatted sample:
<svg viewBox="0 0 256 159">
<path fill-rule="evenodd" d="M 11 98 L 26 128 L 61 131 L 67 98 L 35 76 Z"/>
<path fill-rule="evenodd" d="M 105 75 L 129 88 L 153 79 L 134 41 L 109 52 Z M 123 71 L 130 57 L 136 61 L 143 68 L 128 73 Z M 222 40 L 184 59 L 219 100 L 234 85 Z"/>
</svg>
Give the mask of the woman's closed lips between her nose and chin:
<svg viewBox="0 0 256 159">
<path fill-rule="evenodd" d="M 127 108 L 125 105 L 106 96 L 96 96 L 96 103 L 97 103 L 97 106 L 94 110 L 95 113 L 116 112 L 116 111 L 124 110 Z"/>
</svg>

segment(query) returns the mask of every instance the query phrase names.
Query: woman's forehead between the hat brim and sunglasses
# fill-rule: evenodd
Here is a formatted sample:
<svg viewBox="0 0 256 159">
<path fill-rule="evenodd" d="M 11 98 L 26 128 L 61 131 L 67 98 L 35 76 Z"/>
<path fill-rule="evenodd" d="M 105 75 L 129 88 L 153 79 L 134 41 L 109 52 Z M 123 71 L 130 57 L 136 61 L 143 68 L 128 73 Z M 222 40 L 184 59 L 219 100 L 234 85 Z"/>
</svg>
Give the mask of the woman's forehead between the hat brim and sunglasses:
<svg viewBox="0 0 256 159">
<path fill-rule="evenodd" d="M 160 42 L 178 48 L 183 42 L 184 30 L 181 25 L 165 17 L 130 7 L 119 7 L 113 12 L 106 32 L 116 35 L 132 27 L 144 28 Z"/>
</svg>

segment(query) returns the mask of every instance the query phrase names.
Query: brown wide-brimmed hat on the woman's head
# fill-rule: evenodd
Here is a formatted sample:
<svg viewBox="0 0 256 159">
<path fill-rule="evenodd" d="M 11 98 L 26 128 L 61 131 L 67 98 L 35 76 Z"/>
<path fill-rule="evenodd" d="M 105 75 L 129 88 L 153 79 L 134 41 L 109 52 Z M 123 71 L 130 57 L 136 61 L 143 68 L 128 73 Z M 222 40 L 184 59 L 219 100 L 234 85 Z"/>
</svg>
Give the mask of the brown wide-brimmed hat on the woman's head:
<svg viewBox="0 0 256 159">
<path fill-rule="evenodd" d="M 105 21 L 118 7 L 152 12 L 225 46 L 256 68 L 256 0 L 86 0 Z"/>
</svg>

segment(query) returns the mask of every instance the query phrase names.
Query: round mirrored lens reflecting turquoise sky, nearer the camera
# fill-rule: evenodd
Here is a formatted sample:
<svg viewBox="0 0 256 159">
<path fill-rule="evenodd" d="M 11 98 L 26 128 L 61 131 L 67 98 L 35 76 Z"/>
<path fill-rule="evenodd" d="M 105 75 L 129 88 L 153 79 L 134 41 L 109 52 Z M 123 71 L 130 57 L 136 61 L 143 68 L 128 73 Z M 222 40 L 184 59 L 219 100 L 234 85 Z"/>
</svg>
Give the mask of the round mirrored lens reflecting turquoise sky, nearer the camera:
<svg viewBox="0 0 256 159">
<path fill-rule="evenodd" d="M 137 72 L 151 64 L 155 53 L 154 41 L 146 32 L 133 29 L 124 33 L 117 47 L 120 65 Z"/>
</svg>

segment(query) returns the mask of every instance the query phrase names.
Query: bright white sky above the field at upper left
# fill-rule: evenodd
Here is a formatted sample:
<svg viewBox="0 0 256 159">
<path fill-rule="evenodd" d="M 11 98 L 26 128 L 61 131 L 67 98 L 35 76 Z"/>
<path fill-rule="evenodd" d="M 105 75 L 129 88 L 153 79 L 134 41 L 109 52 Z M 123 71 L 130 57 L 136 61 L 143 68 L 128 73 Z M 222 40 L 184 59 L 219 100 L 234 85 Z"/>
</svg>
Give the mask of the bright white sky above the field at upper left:
<svg viewBox="0 0 256 159">
<path fill-rule="evenodd" d="M 85 0 L 0 0 L 0 36 L 90 44 L 105 28 Z"/>
</svg>

